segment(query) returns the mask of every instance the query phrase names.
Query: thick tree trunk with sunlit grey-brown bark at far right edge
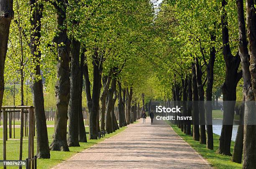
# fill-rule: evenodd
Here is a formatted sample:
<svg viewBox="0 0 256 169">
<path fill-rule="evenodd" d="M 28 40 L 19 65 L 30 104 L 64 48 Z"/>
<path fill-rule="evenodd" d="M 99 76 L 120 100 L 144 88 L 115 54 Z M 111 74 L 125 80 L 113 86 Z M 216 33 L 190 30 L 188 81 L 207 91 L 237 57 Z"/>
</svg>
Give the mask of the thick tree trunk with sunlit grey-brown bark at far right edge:
<svg viewBox="0 0 256 169">
<path fill-rule="evenodd" d="M 238 1 L 239 3 L 240 1 Z M 240 2 L 243 5 L 243 2 Z M 255 169 L 256 168 L 256 116 L 255 116 L 255 98 L 256 98 L 256 9 L 253 0 L 246 0 L 246 23 L 247 23 L 247 35 L 249 40 L 249 55 L 247 51 L 244 55 L 241 55 L 242 68 L 243 68 L 243 93 L 245 96 L 245 112 L 244 112 L 244 137 L 243 137 L 243 169 Z M 241 12 L 239 12 L 241 13 Z M 241 17 L 242 19 L 244 17 Z M 239 20 L 239 15 L 238 15 Z M 243 40 L 246 40 L 245 26 L 239 27 L 239 30 L 243 28 Z M 242 32 L 242 31 L 239 31 Z M 242 39 L 242 38 L 241 38 Z M 246 41 L 241 41 L 246 42 Z M 244 43 L 239 43 L 239 46 Z M 247 46 L 246 46 L 247 47 Z M 240 48 L 239 48 L 240 49 Z M 243 56 L 243 59 L 242 59 Z M 251 64 L 250 64 L 251 63 Z M 248 65 L 249 69 L 248 69 Z M 249 72 L 251 76 L 249 75 Z M 253 96 L 254 94 L 254 96 Z M 254 124 L 254 125 L 250 125 Z"/>
</svg>

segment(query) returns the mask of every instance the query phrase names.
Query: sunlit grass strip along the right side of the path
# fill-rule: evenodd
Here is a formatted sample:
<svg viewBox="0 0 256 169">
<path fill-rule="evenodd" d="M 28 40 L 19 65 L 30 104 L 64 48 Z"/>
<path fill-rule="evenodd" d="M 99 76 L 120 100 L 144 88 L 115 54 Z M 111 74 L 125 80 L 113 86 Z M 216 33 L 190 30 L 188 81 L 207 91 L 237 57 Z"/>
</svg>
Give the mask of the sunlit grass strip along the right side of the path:
<svg viewBox="0 0 256 169">
<path fill-rule="evenodd" d="M 215 167 L 217 169 L 241 169 L 242 164 L 231 162 L 230 156 L 225 156 L 221 154 L 216 154 L 216 150 L 219 146 L 219 135 L 213 134 L 213 150 L 209 150 L 206 148 L 205 144 L 200 144 L 200 142 L 197 142 L 193 140 L 193 137 L 190 135 L 186 135 L 181 130 L 173 124 L 170 124 L 168 121 L 166 121 L 184 141 L 186 141 L 193 149 L 195 149 L 202 157 L 204 157 L 211 165 L 212 167 Z M 231 142 L 231 152 L 233 152 L 235 142 Z"/>
</svg>

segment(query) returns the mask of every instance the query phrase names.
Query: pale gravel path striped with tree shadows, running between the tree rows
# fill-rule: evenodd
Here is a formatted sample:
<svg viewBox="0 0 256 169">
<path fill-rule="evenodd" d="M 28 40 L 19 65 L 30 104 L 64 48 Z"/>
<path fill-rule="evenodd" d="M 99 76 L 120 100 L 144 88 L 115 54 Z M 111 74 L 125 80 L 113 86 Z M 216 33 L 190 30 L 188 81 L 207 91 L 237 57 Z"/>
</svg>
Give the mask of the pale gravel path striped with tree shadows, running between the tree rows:
<svg viewBox="0 0 256 169">
<path fill-rule="evenodd" d="M 211 169 L 164 121 L 150 119 L 77 153 L 55 169 Z"/>
</svg>

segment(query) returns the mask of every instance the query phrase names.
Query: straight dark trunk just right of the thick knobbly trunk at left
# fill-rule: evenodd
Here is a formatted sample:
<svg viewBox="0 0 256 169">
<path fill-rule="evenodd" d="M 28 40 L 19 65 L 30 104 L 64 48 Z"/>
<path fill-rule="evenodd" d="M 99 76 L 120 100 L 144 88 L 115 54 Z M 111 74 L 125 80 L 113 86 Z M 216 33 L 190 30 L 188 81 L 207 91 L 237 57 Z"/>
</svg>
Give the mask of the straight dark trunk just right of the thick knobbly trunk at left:
<svg viewBox="0 0 256 169">
<path fill-rule="evenodd" d="M 79 147 L 79 114 L 81 111 L 81 72 L 79 65 L 80 42 L 72 37 L 71 40 L 71 69 L 70 69 L 70 99 L 68 107 L 69 133 L 67 144 L 69 147 Z"/>
</svg>

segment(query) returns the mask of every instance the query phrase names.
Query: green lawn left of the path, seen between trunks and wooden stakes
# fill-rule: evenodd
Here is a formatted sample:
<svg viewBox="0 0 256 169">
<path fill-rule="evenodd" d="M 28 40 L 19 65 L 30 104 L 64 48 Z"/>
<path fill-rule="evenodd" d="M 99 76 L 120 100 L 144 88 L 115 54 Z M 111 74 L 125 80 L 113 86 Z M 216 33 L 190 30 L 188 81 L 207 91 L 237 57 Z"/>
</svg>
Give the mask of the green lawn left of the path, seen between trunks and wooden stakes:
<svg viewBox="0 0 256 169">
<path fill-rule="evenodd" d="M 85 127 L 86 131 L 89 131 L 89 127 Z M 64 160 L 69 159 L 72 157 L 75 153 L 82 152 L 84 149 L 88 149 L 89 147 L 93 146 L 94 144 L 97 144 L 99 142 L 102 142 L 103 140 L 110 138 L 114 136 L 115 134 L 118 134 L 125 130 L 127 127 L 122 127 L 119 130 L 117 130 L 114 133 L 106 134 L 104 138 L 98 139 L 98 140 L 90 140 L 88 139 L 89 136 L 87 135 L 87 143 L 80 142 L 80 147 L 69 147 L 69 152 L 59 152 L 59 151 L 51 151 L 51 159 L 38 159 L 37 167 L 39 169 L 49 169 L 51 167 L 56 166 L 57 164 L 63 162 Z M 15 128 L 15 133 L 17 136 L 20 132 L 20 128 Z M 49 138 L 49 144 L 52 142 L 52 134 L 54 133 L 54 127 L 47 128 L 48 131 L 48 138 Z M 8 136 L 9 138 L 9 136 Z M 15 137 L 19 138 L 19 137 Z M 28 157 L 28 138 L 23 137 L 23 159 L 26 159 Z M 3 128 L 0 128 L 0 159 L 3 159 Z M 8 140 L 6 142 L 6 154 L 7 159 L 15 159 L 17 160 L 19 157 L 19 147 L 20 147 L 20 141 L 19 140 Z M 36 154 L 36 138 L 34 139 L 34 145 L 35 145 L 35 154 Z M 9 167 L 8 167 L 9 168 Z M 18 168 L 18 167 L 13 167 Z"/>
</svg>

